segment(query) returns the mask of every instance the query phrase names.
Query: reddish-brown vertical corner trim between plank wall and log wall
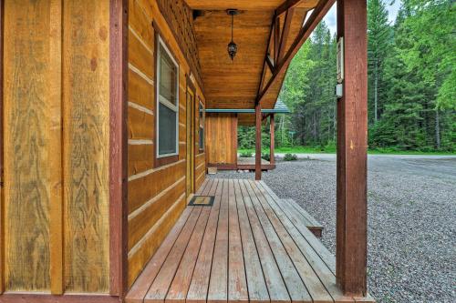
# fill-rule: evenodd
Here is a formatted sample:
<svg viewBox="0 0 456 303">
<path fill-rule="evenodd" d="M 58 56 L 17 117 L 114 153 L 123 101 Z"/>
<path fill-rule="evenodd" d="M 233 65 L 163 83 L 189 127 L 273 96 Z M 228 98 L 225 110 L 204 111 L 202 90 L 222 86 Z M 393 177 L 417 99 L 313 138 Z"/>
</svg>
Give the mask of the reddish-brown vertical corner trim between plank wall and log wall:
<svg viewBox="0 0 456 303">
<path fill-rule="evenodd" d="M 109 3 L 109 294 L 127 292 L 128 0 Z"/>
</svg>

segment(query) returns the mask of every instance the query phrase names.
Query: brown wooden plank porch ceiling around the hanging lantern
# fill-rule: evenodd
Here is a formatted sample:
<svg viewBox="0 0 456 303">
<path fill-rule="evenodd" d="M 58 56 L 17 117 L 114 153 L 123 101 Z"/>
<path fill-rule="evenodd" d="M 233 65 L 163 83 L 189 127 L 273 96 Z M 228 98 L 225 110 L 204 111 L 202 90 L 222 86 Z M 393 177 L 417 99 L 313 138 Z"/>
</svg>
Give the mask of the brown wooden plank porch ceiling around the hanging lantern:
<svg viewBox="0 0 456 303">
<path fill-rule="evenodd" d="M 264 83 L 272 76 L 264 66 L 266 48 L 274 43 L 268 41 L 275 9 L 285 0 L 186 0 L 192 9 L 202 10 L 194 20 L 204 96 L 208 108 L 254 108 L 258 88 L 265 69 Z M 306 12 L 316 6 L 318 0 L 302 0 L 295 6 L 290 30 L 286 39 L 285 52 L 295 40 L 303 25 Z M 232 61 L 227 54 L 231 41 L 231 17 L 228 8 L 237 8 L 240 15 L 234 16 L 234 42 L 238 45 L 237 55 Z M 282 26 L 285 14 L 280 17 Z M 281 27 L 282 27 L 281 26 Z M 271 87 L 262 101 L 263 108 L 274 108 L 282 87 L 285 71 Z"/>
</svg>

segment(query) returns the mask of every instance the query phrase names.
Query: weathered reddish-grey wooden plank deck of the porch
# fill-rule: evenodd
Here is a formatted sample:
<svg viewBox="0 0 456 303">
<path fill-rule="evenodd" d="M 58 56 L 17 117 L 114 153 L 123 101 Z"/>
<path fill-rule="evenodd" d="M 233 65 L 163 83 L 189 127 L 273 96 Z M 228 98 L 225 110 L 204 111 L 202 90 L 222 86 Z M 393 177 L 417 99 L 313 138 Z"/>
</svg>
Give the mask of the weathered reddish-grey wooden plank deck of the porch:
<svg viewBox="0 0 456 303">
<path fill-rule="evenodd" d="M 212 207 L 187 207 L 127 302 L 358 302 L 335 258 L 264 182 L 208 179 Z"/>
</svg>

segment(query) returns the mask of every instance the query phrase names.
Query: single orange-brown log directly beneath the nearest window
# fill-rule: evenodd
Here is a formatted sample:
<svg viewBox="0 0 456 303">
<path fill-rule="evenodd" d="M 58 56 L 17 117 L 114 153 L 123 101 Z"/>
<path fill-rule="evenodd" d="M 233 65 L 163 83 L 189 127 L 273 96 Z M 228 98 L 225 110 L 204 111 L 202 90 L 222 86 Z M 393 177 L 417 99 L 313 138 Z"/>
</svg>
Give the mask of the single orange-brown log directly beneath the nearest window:
<svg viewBox="0 0 456 303">
<path fill-rule="evenodd" d="M 185 176 L 185 161 L 160 167 L 129 182 L 129 213 Z"/>
</svg>

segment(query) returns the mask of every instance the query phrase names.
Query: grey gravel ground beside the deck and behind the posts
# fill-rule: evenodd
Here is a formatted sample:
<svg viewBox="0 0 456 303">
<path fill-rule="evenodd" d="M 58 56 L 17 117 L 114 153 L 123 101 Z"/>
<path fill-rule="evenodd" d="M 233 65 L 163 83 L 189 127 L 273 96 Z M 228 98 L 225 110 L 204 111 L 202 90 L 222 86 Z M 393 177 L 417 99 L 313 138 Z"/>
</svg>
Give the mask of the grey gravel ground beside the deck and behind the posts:
<svg viewBox="0 0 456 303">
<path fill-rule="evenodd" d="M 215 177 L 253 178 L 219 172 Z M 264 173 L 325 227 L 336 252 L 336 160 L 278 161 Z M 368 159 L 368 289 L 378 302 L 456 302 L 456 157 Z"/>
</svg>

